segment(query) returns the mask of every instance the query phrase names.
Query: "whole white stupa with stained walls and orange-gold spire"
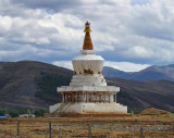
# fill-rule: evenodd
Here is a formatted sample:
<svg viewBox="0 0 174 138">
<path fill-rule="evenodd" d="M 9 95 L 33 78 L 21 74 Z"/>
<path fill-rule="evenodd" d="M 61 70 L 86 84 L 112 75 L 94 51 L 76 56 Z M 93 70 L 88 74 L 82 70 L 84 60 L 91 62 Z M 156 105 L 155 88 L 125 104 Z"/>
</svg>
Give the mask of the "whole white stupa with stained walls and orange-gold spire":
<svg viewBox="0 0 174 138">
<path fill-rule="evenodd" d="M 104 60 L 96 55 L 90 38 L 90 23 L 85 24 L 85 39 L 80 55 L 73 59 L 74 75 L 70 86 L 58 87 L 62 102 L 51 105 L 57 116 L 90 116 L 125 114 L 127 106 L 116 103 L 120 87 L 107 86 L 101 74 Z"/>
</svg>

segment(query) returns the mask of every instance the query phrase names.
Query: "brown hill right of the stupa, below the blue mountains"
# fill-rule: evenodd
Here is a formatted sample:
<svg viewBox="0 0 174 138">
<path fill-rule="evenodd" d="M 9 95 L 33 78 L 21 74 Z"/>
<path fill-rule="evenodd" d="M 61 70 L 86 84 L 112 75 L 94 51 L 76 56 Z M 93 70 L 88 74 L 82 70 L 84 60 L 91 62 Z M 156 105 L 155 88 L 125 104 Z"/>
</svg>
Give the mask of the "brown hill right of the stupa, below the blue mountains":
<svg viewBox="0 0 174 138">
<path fill-rule="evenodd" d="M 149 106 L 174 111 L 174 81 L 109 78 L 108 84 L 121 87 L 117 101 L 128 105 L 133 111 L 141 111 Z"/>
</svg>

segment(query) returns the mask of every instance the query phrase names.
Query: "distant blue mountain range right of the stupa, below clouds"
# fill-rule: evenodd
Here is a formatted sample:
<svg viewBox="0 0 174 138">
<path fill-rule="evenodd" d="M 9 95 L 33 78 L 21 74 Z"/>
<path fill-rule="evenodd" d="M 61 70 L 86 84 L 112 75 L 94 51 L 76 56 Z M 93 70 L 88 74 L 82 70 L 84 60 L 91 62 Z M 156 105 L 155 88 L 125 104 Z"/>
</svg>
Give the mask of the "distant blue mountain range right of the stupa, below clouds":
<svg viewBox="0 0 174 138">
<path fill-rule="evenodd" d="M 105 66 L 102 74 L 105 77 L 115 77 L 134 80 L 174 80 L 174 64 L 152 65 L 139 72 L 123 72 Z"/>
</svg>

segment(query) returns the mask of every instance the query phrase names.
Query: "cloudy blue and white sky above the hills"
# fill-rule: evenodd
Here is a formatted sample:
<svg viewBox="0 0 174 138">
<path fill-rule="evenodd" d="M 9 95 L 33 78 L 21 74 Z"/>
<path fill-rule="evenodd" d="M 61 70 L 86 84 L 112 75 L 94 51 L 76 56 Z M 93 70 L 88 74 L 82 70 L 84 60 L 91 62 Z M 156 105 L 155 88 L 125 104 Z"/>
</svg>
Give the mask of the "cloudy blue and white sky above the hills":
<svg viewBox="0 0 174 138">
<path fill-rule="evenodd" d="M 107 66 L 174 64 L 174 0 L 0 0 L 0 61 L 71 68 L 86 21 Z"/>
</svg>

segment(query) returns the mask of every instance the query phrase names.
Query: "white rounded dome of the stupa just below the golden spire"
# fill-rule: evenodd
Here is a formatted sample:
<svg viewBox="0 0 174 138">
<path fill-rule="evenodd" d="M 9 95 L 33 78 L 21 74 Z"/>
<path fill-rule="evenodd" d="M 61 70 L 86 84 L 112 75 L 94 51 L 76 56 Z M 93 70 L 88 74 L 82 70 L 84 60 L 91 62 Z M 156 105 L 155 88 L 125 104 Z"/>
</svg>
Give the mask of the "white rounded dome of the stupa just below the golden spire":
<svg viewBox="0 0 174 138">
<path fill-rule="evenodd" d="M 73 59 L 73 67 L 76 74 L 101 74 L 104 59 L 94 54 L 92 50 L 82 50 L 82 55 Z"/>
</svg>

